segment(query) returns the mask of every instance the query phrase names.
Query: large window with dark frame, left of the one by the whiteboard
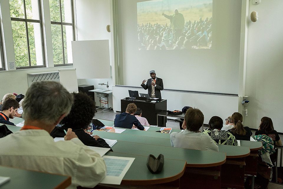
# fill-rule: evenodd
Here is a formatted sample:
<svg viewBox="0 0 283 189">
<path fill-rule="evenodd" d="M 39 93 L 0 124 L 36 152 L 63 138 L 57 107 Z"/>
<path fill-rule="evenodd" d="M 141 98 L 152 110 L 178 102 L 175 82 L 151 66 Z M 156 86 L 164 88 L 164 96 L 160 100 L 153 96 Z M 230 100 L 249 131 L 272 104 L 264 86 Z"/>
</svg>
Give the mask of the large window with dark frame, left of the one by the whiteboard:
<svg viewBox="0 0 283 189">
<path fill-rule="evenodd" d="M 40 0 L 9 0 L 17 69 L 45 66 Z"/>
</svg>

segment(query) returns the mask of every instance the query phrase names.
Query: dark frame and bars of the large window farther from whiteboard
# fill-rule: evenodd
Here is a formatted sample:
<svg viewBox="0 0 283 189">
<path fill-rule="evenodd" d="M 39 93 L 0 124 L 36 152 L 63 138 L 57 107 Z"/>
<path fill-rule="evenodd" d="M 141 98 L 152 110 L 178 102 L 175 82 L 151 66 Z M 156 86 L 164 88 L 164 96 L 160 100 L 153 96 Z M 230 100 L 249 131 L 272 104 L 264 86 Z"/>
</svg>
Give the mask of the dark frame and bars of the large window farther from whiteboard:
<svg viewBox="0 0 283 189">
<path fill-rule="evenodd" d="M 27 50 L 28 50 L 28 55 L 29 55 L 29 66 L 16 66 L 17 70 L 20 69 L 27 69 L 27 68 L 45 68 L 46 64 L 45 64 L 45 48 L 44 48 L 44 38 L 43 38 L 43 27 L 42 27 L 42 12 L 41 12 L 41 2 L 40 0 L 37 0 L 38 2 L 38 11 L 39 11 L 39 20 L 34 20 L 34 19 L 27 19 L 27 9 L 26 9 L 26 0 L 22 0 L 24 3 L 24 17 L 25 18 L 14 18 L 11 17 L 11 21 L 18 21 L 18 22 L 25 22 L 25 27 L 26 27 L 26 35 L 27 35 Z M 10 3 L 9 3 L 10 6 Z M 10 13 L 11 15 L 11 13 Z M 35 23 L 39 23 L 40 24 L 40 33 L 41 33 L 41 46 L 42 46 L 42 65 L 36 65 L 36 66 L 32 66 L 31 65 L 31 60 L 30 60 L 30 47 L 29 47 L 29 31 L 28 31 L 28 26 L 27 23 L 28 22 L 35 22 Z M 12 29 L 13 30 L 13 29 Z M 13 31 L 12 31 L 13 33 Z M 14 40 L 14 39 L 13 39 Z M 14 41 L 13 41 L 14 43 Z M 15 50 L 15 47 L 14 47 Z"/>
</svg>

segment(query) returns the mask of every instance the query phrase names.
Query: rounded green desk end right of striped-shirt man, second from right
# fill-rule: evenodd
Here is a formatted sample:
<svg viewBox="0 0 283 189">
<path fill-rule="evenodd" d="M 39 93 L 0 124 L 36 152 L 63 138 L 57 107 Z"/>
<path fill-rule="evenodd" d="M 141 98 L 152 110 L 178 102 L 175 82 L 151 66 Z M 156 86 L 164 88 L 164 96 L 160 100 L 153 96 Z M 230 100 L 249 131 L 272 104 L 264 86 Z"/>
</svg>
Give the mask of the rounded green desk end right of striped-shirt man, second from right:
<svg viewBox="0 0 283 189">
<path fill-rule="evenodd" d="M 226 158 L 239 158 L 239 157 L 246 157 L 250 155 L 249 147 L 243 146 L 230 146 L 230 145 L 223 145 L 217 144 L 219 148 L 219 152 L 225 152 Z"/>
</svg>

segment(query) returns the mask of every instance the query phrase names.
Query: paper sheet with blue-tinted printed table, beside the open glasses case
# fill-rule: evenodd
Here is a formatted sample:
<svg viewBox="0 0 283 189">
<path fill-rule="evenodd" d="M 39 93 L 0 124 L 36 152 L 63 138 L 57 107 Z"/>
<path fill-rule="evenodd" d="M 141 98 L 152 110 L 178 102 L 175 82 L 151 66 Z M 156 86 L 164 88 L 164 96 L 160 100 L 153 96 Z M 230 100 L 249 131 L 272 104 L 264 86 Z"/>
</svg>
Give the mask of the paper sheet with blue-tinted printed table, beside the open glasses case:
<svg viewBox="0 0 283 189">
<path fill-rule="evenodd" d="M 134 157 L 103 156 L 106 165 L 106 177 L 101 184 L 121 184 L 124 176 L 134 162 Z"/>
</svg>

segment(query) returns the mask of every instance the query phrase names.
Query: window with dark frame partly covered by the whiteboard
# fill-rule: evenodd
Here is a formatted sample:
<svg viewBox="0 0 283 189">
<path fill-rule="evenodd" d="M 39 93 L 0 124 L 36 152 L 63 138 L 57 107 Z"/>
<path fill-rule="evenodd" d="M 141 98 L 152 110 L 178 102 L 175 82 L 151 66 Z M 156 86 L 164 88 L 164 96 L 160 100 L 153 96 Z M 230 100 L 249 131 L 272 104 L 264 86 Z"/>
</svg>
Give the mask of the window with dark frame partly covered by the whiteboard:
<svg viewBox="0 0 283 189">
<path fill-rule="evenodd" d="M 73 1 L 49 0 L 54 66 L 73 65 L 71 41 L 75 39 Z"/>
</svg>

